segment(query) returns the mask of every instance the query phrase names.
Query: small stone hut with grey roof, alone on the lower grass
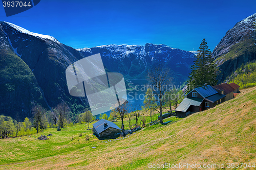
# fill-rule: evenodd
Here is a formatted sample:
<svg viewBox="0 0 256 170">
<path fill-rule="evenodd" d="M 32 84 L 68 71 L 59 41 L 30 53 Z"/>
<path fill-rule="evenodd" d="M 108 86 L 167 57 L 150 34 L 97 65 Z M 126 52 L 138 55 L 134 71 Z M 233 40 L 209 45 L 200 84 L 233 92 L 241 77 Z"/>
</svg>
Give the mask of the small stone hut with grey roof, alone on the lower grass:
<svg viewBox="0 0 256 170">
<path fill-rule="evenodd" d="M 100 119 L 93 124 L 93 133 L 99 138 L 111 138 L 115 134 L 121 133 L 121 129 L 109 120 Z"/>
</svg>

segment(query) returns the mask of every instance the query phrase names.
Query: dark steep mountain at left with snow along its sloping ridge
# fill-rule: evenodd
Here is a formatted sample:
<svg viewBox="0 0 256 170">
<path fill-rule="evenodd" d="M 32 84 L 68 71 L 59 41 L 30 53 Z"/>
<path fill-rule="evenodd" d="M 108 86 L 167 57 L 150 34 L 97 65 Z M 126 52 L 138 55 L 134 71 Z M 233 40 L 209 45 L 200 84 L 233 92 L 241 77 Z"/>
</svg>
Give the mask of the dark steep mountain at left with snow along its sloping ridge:
<svg viewBox="0 0 256 170">
<path fill-rule="evenodd" d="M 69 95 L 65 75 L 67 66 L 82 59 L 83 55 L 51 36 L 31 33 L 8 22 L 0 22 L 0 37 L 2 42 L 0 48 L 5 51 L 1 59 L 12 61 L 9 64 L 10 69 L 1 74 L 2 79 L 5 80 L 0 82 L 3 87 L 0 89 L 1 114 L 16 118 L 13 116 L 15 114 L 21 119 L 25 116 L 31 117 L 33 102 L 48 106 L 48 109 L 62 101 L 70 106 L 81 105 L 83 106 L 81 109 L 87 106 L 84 98 L 73 98 Z M 26 67 L 22 67 L 20 63 Z M 14 69 L 10 65 L 19 67 Z M 4 67 L 1 71 L 3 69 Z M 28 80 L 23 88 L 18 88 L 19 84 L 24 83 L 23 79 L 19 78 L 29 75 L 33 79 Z M 8 82 L 15 83 L 8 84 Z M 13 87 L 12 93 L 7 92 L 10 87 Z M 32 96 L 33 93 L 38 96 Z M 19 96 L 27 96 L 27 98 L 22 99 Z"/>
</svg>

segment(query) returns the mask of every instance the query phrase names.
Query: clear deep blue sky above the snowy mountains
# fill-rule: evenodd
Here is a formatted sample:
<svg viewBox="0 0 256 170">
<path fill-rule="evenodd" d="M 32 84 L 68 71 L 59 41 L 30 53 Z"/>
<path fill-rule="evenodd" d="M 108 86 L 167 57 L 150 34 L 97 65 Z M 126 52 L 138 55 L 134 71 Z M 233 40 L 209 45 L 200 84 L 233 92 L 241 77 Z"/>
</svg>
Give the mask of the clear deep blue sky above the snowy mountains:
<svg viewBox="0 0 256 170">
<path fill-rule="evenodd" d="M 51 35 L 74 48 L 106 44 L 166 44 L 210 50 L 238 21 L 256 13 L 256 1 L 67 1 L 41 0 L 32 9 L 0 20 Z"/>
</svg>

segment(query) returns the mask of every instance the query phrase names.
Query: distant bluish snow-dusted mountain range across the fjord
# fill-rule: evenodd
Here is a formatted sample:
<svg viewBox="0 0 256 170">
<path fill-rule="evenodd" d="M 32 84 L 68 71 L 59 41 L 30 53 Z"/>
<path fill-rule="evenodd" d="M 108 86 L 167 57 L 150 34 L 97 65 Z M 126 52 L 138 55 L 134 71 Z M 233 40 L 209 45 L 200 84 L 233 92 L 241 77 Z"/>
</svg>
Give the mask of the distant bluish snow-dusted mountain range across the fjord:
<svg viewBox="0 0 256 170">
<path fill-rule="evenodd" d="M 128 79 L 145 79 L 147 69 L 154 64 L 170 68 L 177 79 L 186 79 L 194 60 L 194 54 L 164 44 L 102 45 L 77 50 L 84 56 L 100 53 L 106 68 Z"/>
</svg>

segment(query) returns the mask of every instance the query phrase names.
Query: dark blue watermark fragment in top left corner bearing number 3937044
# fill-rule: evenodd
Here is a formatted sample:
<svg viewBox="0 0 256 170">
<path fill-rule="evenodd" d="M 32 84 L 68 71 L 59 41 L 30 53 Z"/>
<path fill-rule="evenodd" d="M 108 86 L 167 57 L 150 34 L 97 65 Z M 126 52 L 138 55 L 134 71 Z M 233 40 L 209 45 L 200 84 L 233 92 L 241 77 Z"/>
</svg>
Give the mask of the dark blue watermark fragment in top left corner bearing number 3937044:
<svg viewBox="0 0 256 170">
<path fill-rule="evenodd" d="M 40 0 L 18 0 L 18 1 L 8 1 L 2 0 L 3 7 L 5 9 L 6 16 L 12 16 L 24 11 L 27 11 L 34 6 L 36 6 Z"/>
</svg>

